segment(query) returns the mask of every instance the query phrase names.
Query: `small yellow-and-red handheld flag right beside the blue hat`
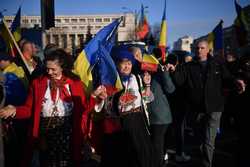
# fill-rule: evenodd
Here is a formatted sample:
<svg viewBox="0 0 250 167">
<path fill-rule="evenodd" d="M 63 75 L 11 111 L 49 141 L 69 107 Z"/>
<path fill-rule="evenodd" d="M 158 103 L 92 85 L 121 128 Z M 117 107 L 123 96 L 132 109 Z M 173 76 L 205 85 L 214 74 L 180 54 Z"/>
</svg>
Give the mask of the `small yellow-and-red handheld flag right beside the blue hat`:
<svg viewBox="0 0 250 167">
<path fill-rule="evenodd" d="M 141 70 L 156 72 L 159 64 L 159 61 L 153 55 L 144 54 L 141 63 Z"/>
</svg>

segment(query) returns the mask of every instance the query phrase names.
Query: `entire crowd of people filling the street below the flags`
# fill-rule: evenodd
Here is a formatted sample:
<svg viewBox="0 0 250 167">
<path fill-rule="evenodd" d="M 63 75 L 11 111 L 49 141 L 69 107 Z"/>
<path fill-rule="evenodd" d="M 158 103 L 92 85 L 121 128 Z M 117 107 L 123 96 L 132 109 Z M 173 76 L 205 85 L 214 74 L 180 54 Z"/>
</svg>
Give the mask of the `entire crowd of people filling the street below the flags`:
<svg viewBox="0 0 250 167">
<path fill-rule="evenodd" d="M 18 57 L 0 53 L 0 158 L 6 167 L 80 167 L 91 154 L 100 156 L 101 167 L 163 167 L 170 128 L 175 133 L 175 160 L 185 163 L 192 159 L 185 150 L 187 119 L 200 146 L 196 165 L 212 167 L 225 104 L 230 109 L 225 115 L 230 113 L 238 125 L 241 144 L 248 142 L 247 51 L 218 61 L 204 40 L 194 56 L 179 61 L 169 54 L 162 62 L 161 49 L 155 48 L 152 55 L 160 65 L 153 72 L 141 68 L 139 47 L 115 46 L 110 56 L 123 90 L 110 95 L 97 81 L 87 95 L 72 72 L 74 57 L 65 50 L 48 44 L 39 51 L 27 40 L 19 45 L 30 75 Z M 245 110 L 237 111 L 237 105 Z M 238 156 L 238 166 L 248 163 L 245 154 Z"/>
</svg>

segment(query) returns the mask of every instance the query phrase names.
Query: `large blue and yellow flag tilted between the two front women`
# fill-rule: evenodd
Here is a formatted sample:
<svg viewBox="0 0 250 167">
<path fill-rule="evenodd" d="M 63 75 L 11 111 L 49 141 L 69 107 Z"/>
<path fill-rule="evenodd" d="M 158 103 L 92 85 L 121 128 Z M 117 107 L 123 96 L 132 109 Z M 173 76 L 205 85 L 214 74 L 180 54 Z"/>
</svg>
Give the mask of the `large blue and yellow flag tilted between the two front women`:
<svg viewBox="0 0 250 167">
<path fill-rule="evenodd" d="M 101 29 L 96 36 L 89 41 L 89 43 L 86 45 L 84 50 L 78 55 L 75 63 L 74 63 L 74 72 L 79 75 L 81 80 L 83 81 L 86 91 L 90 93 L 92 90 L 92 84 L 93 84 L 93 77 L 92 77 L 92 71 L 94 68 L 100 67 L 100 63 L 103 63 L 103 61 L 106 61 L 105 56 L 109 56 L 109 53 L 111 51 L 112 45 L 114 44 L 112 41 L 110 41 L 113 38 L 113 33 L 116 33 L 117 27 L 120 24 L 120 19 L 117 19 L 110 23 L 109 25 L 105 26 L 103 29 Z M 104 47 L 101 48 L 100 46 Z M 104 50 L 104 51 L 103 51 Z M 102 52 L 104 53 L 104 56 L 102 56 Z M 108 52 L 108 53 L 106 53 Z M 104 57 L 104 58 L 103 58 Z M 109 56 L 110 57 L 110 56 Z M 110 57 L 111 58 L 111 57 Z M 105 60 L 103 60 L 105 59 Z M 111 61 L 111 60 L 109 60 Z M 109 62 L 112 63 L 112 62 Z M 103 65 L 102 68 L 106 68 L 106 71 L 103 70 L 103 75 L 105 72 L 110 72 L 112 70 L 116 70 L 114 68 L 110 69 L 111 67 L 108 65 Z M 97 70 L 98 71 L 98 70 Z M 115 74 L 116 71 L 112 71 Z M 110 72 L 111 74 L 111 72 Z M 102 75 L 102 74 L 101 74 Z M 106 74 L 105 74 L 106 75 Z M 112 75 L 113 76 L 113 75 Z M 114 76 L 113 76 L 114 77 Z M 114 79 L 114 78 L 113 78 Z M 117 81 L 117 84 L 116 84 Z M 101 81 L 101 84 L 107 85 L 108 82 L 103 83 L 104 81 Z M 117 86 L 117 89 L 119 89 L 118 82 L 120 82 L 120 78 L 116 75 L 116 78 L 113 81 L 110 81 L 110 84 L 113 84 Z"/>
</svg>

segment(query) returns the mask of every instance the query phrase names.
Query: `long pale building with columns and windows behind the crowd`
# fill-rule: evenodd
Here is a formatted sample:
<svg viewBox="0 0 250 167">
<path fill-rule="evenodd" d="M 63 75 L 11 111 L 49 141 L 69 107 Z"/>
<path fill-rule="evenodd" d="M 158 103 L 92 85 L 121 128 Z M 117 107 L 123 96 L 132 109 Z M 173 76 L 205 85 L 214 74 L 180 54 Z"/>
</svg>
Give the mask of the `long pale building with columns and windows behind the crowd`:
<svg viewBox="0 0 250 167">
<path fill-rule="evenodd" d="M 135 39 L 135 16 L 133 13 L 103 14 L 103 15 L 61 15 L 55 17 L 55 27 L 42 33 L 43 47 L 54 43 L 61 48 L 71 50 L 82 47 L 87 35 L 92 37 L 104 26 L 122 17 L 118 28 L 117 40 L 129 41 Z M 10 26 L 14 16 L 5 16 Z M 41 28 L 40 16 L 22 16 L 21 28 Z"/>
</svg>

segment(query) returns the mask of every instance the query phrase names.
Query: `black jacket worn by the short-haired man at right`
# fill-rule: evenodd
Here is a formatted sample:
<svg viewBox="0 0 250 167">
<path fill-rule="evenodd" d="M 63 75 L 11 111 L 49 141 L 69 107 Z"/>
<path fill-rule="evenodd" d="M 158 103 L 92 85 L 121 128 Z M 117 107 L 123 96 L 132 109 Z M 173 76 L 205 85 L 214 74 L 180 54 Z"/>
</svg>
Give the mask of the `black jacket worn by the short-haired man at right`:
<svg viewBox="0 0 250 167">
<path fill-rule="evenodd" d="M 234 78 L 224 64 L 209 56 L 204 70 L 198 60 L 178 65 L 173 74 L 175 83 L 184 86 L 187 103 L 196 112 L 222 112 L 223 87 L 232 86 Z"/>
</svg>

